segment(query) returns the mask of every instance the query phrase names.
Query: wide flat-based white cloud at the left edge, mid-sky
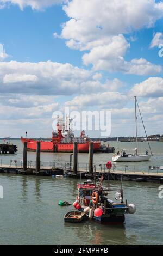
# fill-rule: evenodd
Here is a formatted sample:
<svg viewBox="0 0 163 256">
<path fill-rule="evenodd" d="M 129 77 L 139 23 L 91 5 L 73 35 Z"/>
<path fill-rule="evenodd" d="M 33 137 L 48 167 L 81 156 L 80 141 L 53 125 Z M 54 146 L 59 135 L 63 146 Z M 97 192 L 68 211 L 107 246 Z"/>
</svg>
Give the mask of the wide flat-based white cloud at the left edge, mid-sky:
<svg viewBox="0 0 163 256">
<path fill-rule="evenodd" d="M 40 95 L 71 95 L 93 72 L 55 62 L 0 62 L 0 92 Z M 93 80 L 95 81 L 95 80 Z"/>
</svg>

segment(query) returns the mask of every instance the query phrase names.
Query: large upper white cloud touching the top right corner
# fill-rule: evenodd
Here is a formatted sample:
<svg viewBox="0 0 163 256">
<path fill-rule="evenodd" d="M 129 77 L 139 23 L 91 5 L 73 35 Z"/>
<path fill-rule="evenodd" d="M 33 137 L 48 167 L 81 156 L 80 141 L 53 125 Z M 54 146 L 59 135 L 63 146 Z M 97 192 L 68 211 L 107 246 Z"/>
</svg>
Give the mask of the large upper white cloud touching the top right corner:
<svg viewBox="0 0 163 256">
<path fill-rule="evenodd" d="M 62 37 L 72 48 L 89 48 L 106 36 L 152 27 L 163 16 L 163 3 L 154 0 L 72 0 L 64 6 L 70 18 Z M 102 44 L 101 44 L 102 45 Z"/>
</svg>

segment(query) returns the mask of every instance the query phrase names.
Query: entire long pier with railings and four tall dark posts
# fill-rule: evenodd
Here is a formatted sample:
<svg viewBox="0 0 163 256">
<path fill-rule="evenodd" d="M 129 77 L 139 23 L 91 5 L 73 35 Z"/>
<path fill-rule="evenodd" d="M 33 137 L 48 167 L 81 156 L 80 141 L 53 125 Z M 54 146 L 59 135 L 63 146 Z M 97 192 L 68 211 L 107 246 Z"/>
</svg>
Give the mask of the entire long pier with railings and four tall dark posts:
<svg viewBox="0 0 163 256">
<path fill-rule="evenodd" d="M 124 169 L 123 169 L 124 168 Z M 70 178 L 93 179 L 100 178 L 109 180 L 125 180 L 136 182 L 154 182 L 163 183 L 163 171 L 161 169 L 152 169 L 136 171 L 135 167 L 129 169 L 128 166 L 122 166 L 118 169 L 115 165 L 108 170 L 105 163 L 93 163 L 93 147 L 90 143 L 89 163 L 78 163 L 77 143 L 74 143 L 73 162 L 72 154 L 69 161 L 54 160 L 53 162 L 40 161 L 40 143 L 37 144 L 36 161 L 27 161 L 27 145 L 24 143 L 23 161 L 10 161 L 10 164 L 3 164 L 0 161 L 0 173 L 23 174 L 23 175 L 41 175 L 54 176 L 66 175 Z"/>
</svg>

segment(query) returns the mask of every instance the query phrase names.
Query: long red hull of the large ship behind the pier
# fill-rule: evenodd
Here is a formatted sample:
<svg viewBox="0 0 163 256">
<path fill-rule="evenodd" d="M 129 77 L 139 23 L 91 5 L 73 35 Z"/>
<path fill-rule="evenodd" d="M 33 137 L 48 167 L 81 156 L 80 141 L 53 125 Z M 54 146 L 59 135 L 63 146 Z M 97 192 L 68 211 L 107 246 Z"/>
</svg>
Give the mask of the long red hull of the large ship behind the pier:
<svg viewBox="0 0 163 256">
<path fill-rule="evenodd" d="M 36 151 L 37 141 L 34 139 L 25 139 L 21 138 L 22 143 L 27 142 L 27 151 Z M 73 143 L 56 145 L 52 141 L 40 141 L 41 152 L 67 152 L 73 153 Z M 94 142 L 93 149 L 94 152 L 98 151 L 100 148 L 100 143 Z M 78 143 L 78 152 L 79 153 L 88 153 L 89 152 L 89 142 L 87 143 Z"/>
</svg>

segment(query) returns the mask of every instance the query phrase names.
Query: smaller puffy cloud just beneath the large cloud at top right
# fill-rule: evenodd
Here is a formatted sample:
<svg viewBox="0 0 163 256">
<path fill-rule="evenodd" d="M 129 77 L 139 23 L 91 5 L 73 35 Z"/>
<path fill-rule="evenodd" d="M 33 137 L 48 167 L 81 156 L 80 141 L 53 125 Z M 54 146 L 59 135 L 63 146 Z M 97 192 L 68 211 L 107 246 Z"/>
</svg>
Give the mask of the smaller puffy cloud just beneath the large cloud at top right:
<svg viewBox="0 0 163 256">
<path fill-rule="evenodd" d="M 146 59 L 124 60 L 124 55 L 130 44 L 123 35 L 112 36 L 108 43 L 96 46 L 89 53 L 83 55 L 85 65 L 92 64 L 94 70 L 107 70 L 109 72 L 124 72 L 135 75 L 153 75 L 161 71 L 161 66 L 147 62 Z"/>
</svg>

